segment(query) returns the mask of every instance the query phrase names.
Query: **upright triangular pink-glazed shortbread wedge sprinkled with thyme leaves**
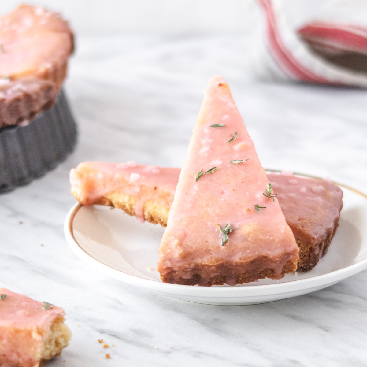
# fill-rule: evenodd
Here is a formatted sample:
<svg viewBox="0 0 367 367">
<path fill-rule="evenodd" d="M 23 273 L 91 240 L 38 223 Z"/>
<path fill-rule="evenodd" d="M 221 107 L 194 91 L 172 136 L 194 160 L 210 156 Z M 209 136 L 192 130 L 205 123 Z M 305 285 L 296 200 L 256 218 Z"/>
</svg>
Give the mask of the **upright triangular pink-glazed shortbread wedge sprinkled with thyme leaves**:
<svg viewBox="0 0 367 367">
<path fill-rule="evenodd" d="M 235 285 L 295 271 L 298 247 L 268 185 L 228 84 L 212 77 L 159 247 L 161 279 Z"/>
</svg>

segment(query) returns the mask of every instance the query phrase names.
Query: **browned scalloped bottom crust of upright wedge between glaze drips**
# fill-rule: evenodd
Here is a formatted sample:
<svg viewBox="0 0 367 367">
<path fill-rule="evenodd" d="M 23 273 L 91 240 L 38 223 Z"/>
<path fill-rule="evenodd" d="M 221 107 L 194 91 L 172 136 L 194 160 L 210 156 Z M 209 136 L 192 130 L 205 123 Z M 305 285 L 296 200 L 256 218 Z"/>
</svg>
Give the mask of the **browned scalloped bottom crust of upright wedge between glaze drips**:
<svg viewBox="0 0 367 367">
<path fill-rule="evenodd" d="M 281 276 L 283 277 L 287 273 L 292 273 L 297 268 L 297 260 L 289 260 L 283 266 L 281 271 Z M 225 273 L 225 265 L 223 269 L 220 269 L 219 272 Z M 232 273 L 232 272 L 231 272 Z M 232 274 L 231 274 L 232 277 Z M 264 268 L 264 269 L 247 269 L 246 272 L 237 275 L 236 284 L 250 283 L 252 281 L 256 281 L 259 279 L 270 278 L 274 279 L 275 272 L 274 269 Z M 226 283 L 226 275 L 219 275 L 217 277 L 212 277 L 207 284 L 201 284 L 201 276 L 200 274 L 195 274 L 190 279 L 184 279 L 179 276 L 179 274 L 172 270 L 166 275 L 161 275 L 161 280 L 165 283 L 174 283 L 174 284 L 184 284 L 187 286 L 195 286 L 196 284 L 200 284 L 200 286 L 222 286 Z M 232 283 L 231 283 L 232 284 Z"/>
</svg>

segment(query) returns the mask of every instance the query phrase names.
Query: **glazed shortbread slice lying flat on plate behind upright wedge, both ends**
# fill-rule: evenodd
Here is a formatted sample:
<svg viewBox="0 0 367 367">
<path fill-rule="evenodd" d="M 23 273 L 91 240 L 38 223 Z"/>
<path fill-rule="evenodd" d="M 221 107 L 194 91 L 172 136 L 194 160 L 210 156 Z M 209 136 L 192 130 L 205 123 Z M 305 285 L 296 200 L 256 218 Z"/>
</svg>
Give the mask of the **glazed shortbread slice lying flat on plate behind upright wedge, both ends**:
<svg viewBox="0 0 367 367">
<path fill-rule="evenodd" d="M 85 162 L 70 172 L 71 192 L 83 205 L 109 205 L 130 215 L 135 215 L 136 207 L 140 222 L 146 219 L 165 227 L 180 171 L 180 168 L 132 162 Z M 327 179 L 299 177 L 287 172 L 272 172 L 267 177 L 298 244 L 297 270 L 311 270 L 327 253 L 335 235 L 343 192 Z M 160 186 L 162 178 L 163 187 Z"/>
</svg>

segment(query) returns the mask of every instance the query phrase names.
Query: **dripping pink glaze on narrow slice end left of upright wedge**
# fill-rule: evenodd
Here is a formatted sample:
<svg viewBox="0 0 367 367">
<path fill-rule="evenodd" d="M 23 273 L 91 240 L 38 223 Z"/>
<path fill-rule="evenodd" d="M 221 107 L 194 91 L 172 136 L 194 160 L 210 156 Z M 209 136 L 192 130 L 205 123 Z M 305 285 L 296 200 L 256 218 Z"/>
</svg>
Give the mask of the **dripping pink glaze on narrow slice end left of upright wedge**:
<svg viewBox="0 0 367 367">
<path fill-rule="evenodd" d="M 167 210 L 171 207 L 179 172 L 179 168 L 143 166 L 134 162 L 86 162 L 70 171 L 70 183 L 83 205 L 92 205 L 112 192 L 134 197 L 135 215 L 143 222 L 146 201 L 155 200 Z"/>
</svg>

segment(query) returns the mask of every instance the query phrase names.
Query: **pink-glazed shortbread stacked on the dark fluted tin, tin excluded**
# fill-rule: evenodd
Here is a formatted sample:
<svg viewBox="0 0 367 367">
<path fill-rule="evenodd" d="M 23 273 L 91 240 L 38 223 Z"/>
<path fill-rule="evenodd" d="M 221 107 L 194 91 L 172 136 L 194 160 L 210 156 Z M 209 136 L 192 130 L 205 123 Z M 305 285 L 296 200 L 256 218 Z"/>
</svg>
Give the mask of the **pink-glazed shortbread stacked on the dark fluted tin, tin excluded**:
<svg viewBox="0 0 367 367">
<path fill-rule="evenodd" d="M 0 44 L 1 128 L 33 119 L 54 104 L 73 51 L 73 34 L 58 14 L 21 5 L 0 18 Z M 32 83 L 27 77 L 33 77 Z"/>
</svg>

